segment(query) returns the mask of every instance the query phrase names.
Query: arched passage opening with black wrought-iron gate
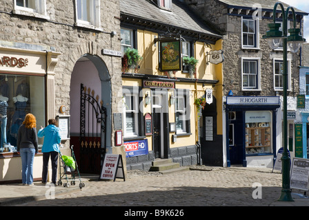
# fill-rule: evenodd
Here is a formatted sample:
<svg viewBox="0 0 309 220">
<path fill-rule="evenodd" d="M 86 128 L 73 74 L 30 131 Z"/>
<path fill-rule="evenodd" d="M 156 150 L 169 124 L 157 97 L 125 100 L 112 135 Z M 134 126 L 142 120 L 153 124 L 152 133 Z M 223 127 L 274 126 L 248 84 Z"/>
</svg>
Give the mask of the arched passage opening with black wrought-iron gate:
<svg viewBox="0 0 309 220">
<path fill-rule="evenodd" d="M 97 114 L 101 110 L 91 107 L 91 104 L 81 111 L 85 104 L 81 102 L 81 84 L 86 87 L 88 98 L 92 102 L 98 102 L 97 106 L 103 107 L 106 114 L 105 122 L 101 115 Z M 106 64 L 98 56 L 84 55 L 74 65 L 70 84 L 70 145 L 74 146 L 80 173 L 99 174 L 103 153 L 112 152 L 110 115 L 111 85 Z"/>
</svg>

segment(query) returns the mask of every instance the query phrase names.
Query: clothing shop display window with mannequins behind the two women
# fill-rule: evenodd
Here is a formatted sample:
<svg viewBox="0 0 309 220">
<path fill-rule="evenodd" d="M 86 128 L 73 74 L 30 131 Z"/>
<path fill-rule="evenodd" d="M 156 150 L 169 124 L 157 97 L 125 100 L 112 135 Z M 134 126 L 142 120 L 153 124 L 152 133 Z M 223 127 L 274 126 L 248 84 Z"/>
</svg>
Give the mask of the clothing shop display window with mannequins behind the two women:
<svg viewBox="0 0 309 220">
<path fill-rule="evenodd" d="M 17 132 L 27 113 L 36 117 L 37 130 L 45 125 L 45 78 L 0 74 L 0 92 L 0 153 L 14 152 Z M 39 144 L 42 142 L 39 139 Z"/>
</svg>

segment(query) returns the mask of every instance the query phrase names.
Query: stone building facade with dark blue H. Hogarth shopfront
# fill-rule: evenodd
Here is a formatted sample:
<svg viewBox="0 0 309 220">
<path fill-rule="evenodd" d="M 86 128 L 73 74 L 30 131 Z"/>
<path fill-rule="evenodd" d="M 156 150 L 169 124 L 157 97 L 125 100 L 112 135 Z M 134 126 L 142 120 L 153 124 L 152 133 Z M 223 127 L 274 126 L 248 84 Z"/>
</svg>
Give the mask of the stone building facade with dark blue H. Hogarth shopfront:
<svg viewBox="0 0 309 220">
<path fill-rule="evenodd" d="M 225 60 L 221 83 L 224 85 L 223 94 L 226 96 L 223 98 L 226 115 L 223 118 L 223 127 L 226 126 L 226 132 L 223 134 L 223 166 L 243 164 L 243 166 L 272 167 L 274 155 L 281 146 L 282 139 L 283 53 L 282 48 L 272 50 L 262 36 L 269 30 L 268 23 L 272 22 L 273 16 L 277 18 L 277 22 L 282 21 L 282 13 L 279 11 L 281 8 L 278 7 L 277 13 L 273 14 L 277 1 L 244 3 L 238 0 L 187 0 L 185 2 L 192 10 L 198 12 L 203 20 L 212 23 L 223 34 L 222 48 Z M 288 7 L 286 4 L 283 5 L 285 8 Z M 303 17 L 308 13 L 297 8 L 295 13 L 297 28 L 303 28 Z M 288 28 L 292 28 L 291 14 Z M 292 114 L 297 108 L 299 65 L 302 55 L 301 52 L 288 53 L 288 111 Z M 269 101 L 269 97 L 279 99 L 268 103 L 239 104 L 241 98 L 248 98 L 246 100 L 268 98 Z M 265 117 L 268 118 L 267 122 L 248 119 Z M 293 149 L 295 140 L 294 120 L 289 118 L 288 121 L 290 149 Z M 265 124 L 270 131 L 264 128 Z M 263 126 L 263 128 L 253 129 L 252 126 Z M 259 139 L 256 142 L 252 140 L 251 135 L 251 131 L 254 130 L 259 133 L 256 135 Z M 267 137 L 264 136 L 266 133 Z M 261 139 L 265 142 L 261 142 Z M 269 149 L 266 150 L 267 148 Z M 295 152 L 295 149 L 292 151 Z"/>
</svg>

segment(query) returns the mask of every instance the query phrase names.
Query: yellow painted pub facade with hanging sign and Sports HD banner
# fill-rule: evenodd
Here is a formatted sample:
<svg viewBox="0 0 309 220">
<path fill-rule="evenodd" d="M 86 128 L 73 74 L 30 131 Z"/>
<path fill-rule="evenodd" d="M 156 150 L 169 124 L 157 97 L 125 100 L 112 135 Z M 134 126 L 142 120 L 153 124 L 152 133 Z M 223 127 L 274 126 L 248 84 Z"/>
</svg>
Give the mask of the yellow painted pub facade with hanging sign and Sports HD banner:
<svg viewBox="0 0 309 220">
<path fill-rule="evenodd" d="M 177 27 L 148 21 L 147 13 L 133 14 L 127 1 L 121 1 L 119 108 L 127 169 L 149 170 L 152 161 L 167 158 L 181 166 L 222 164 L 223 60 L 212 62 L 223 58 L 221 36 L 206 28 L 197 31 L 197 20 L 181 3 L 172 3 L 170 10 L 145 3 L 152 17 L 161 14 L 165 21 L 168 11 L 170 21 L 182 17 L 192 25 L 184 30 L 181 23 Z M 126 68 L 127 48 L 142 57 L 133 69 Z M 186 57 L 197 60 L 193 73 Z"/>
</svg>

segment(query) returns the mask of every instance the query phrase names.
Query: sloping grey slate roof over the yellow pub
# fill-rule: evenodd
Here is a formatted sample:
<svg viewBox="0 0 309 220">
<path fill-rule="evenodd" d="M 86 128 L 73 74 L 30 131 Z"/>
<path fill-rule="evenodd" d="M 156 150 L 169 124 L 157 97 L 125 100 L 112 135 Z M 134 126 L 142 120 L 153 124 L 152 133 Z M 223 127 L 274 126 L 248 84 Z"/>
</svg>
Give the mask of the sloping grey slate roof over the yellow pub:
<svg viewBox="0 0 309 220">
<path fill-rule="evenodd" d="M 192 12 L 187 5 L 179 3 L 178 1 L 172 2 L 172 11 L 162 10 L 155 5 L 151 0 L 121 0 L 120 12 L 122 22 L 123 17 L 131 17 L 134 19 L 134 25 L 143 25 L 148 28 L 155 28 L 154 23 L 161 24 L 162 27 L 177 28 L 188 32 L 194 32 L 192 37 L 198 37 L 200 34 L 211 36 L 213 41 L 221 39 L 221 35 L 215 30 L 212 30 L 206 23 L 201 21 L 201 18 Z M 141 21 L 137 21 L 137 20 Z M 133 19 L 131 19 L 132 23 Z M 147 24 L 146 24 L 147 23 Z M 156 26 L 158 27 L 158 26 Z"/>
</svg>

